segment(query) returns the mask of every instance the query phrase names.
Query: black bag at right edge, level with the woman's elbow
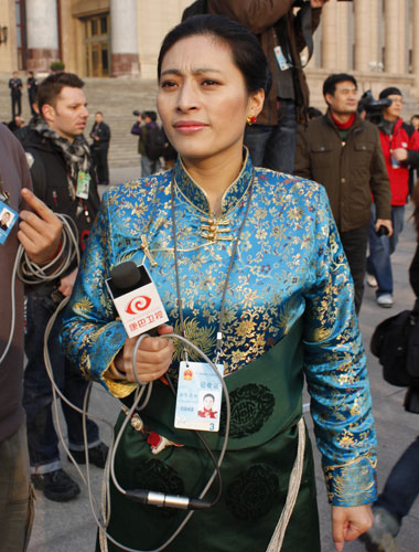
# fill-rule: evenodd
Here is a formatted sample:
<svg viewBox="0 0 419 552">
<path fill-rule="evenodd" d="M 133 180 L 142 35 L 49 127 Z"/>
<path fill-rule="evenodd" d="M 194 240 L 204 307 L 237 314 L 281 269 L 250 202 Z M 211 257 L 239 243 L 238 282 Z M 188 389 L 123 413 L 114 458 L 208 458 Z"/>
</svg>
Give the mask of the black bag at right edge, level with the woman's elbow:
<svg viewBox="0 0 419 552">
<path fill-rule="evenodd" d="M 370 351 L 391 385 L 419 388 L 419 301 L 412 310 L 387 318 L 375 329 Z"/>
</svg>

